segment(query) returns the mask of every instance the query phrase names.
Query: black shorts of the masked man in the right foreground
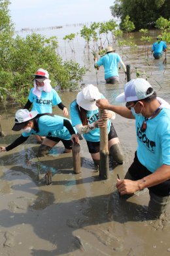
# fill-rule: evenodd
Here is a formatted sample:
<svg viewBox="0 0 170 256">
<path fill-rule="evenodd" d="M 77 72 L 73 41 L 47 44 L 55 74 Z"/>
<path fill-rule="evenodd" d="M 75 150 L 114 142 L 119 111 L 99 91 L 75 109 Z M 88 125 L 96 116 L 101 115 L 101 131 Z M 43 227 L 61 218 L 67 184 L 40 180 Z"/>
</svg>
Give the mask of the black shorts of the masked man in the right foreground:
<svg viewBox="0 0 170 256">
<path fill-rule="evenodd" d="M 144 177 L 152 174 L 144 165 L 140 163 L 140 161 L 137 158 L 137 152 L 135 152 L 135 158 L 133 160 L 133 163 L 129 167 L 128 172 L 130 175 L 134 178 L 135 181 L 139 179 L 143 179 Z M 170 180 L 162 182 L 156 186 L 151 186 L 148 188 L 150 192 L 153 192 L 154 194 L 158 196 L 169 196 L 170 194 Z"/>
</svg>

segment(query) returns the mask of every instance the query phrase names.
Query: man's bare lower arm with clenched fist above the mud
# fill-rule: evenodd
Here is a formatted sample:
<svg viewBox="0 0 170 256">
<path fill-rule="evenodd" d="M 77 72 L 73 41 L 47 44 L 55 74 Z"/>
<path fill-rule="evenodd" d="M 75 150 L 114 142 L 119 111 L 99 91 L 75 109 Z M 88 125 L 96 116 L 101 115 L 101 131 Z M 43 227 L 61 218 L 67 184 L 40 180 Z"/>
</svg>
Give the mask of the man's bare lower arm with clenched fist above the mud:
<svg viewBox="0 0 170 256">
<path fill-rule="evenodd" d="M 121 195 L 133 194 L 143 188 L 150 188 L 150 186 L 156 186 L 164 181 L 170 179 L 170 165 L 161 165 L 154 173 L 140 179 L 138 181 L 131 181 L 127 179 L 118 179 L 116 187 Z"/>
</svg>

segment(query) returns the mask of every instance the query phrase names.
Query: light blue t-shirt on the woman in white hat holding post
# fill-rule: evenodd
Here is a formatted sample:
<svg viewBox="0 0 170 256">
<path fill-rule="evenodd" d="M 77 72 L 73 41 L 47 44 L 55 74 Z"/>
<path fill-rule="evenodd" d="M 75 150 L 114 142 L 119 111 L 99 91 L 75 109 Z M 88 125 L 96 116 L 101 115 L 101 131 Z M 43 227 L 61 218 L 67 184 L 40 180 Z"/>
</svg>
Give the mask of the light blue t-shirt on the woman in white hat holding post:
<svg viewBox="0 0 170 256">
<path fill-rule="evenodd" d="M 73 126 L 82 124 L 82 121 L 79 116 L 78 105 L 76 103 L 76 100 L 74 100 L 70 105 L 70 116 L 71 116 L 71 121 Z M 97 119 L 99 119 L 99 110 L 97 109 L 97 110 L 87 111 L 87 118 L 88 118 L 89 124 L 95 122 Z M 110 131 L 110 120 L 107 121 L 107 132 L 109 133 L 109 131 Z M 83 137 L 87 141 L 92 141 L 92 142 L 100 141 L 99 128 L 95 128 L 89 131 L 88 133 L 84 133 Z"/>
</svg>

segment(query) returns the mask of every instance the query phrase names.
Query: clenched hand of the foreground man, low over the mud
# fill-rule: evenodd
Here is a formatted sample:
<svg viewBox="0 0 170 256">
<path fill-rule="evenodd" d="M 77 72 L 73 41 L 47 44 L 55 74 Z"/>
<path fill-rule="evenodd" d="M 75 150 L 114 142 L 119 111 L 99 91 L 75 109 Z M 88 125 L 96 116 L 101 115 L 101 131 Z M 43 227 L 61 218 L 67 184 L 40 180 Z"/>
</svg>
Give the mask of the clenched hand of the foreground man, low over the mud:
<svg viewBox="0 0 170 256">
<path fill-rule="evenodd" d="M 116 188 L 121 195 L 133 194 L 139 190 L 139 183 L 138 181 L 117 179 Z"/>
</svg>

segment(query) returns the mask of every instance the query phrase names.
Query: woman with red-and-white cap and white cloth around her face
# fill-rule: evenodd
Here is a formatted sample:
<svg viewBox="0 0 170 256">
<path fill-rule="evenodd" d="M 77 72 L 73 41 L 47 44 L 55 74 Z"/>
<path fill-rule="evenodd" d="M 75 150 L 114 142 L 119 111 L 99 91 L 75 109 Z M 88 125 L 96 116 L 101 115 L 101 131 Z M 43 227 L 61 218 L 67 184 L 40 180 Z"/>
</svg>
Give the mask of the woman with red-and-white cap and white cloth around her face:
<svg viewBox="0 0 170 256">
<path fill-rule="evenodd" d="M 33 105 L 32 110 L 36 110 L 39 114 L 52 113 L 52 106 L 58 105 L 63 110 L 63 115 L 68 116 L 66 106 L 62 104 L 58 93 L 50 85 L 48 77 L 48 72 L 43 68 L 37 70 L 34 77 L 34 88 L 29 93 L 24 109 L 29 110 Z M 42 142 L 42 137 L 36 135 L 36 138 L 39 143 Z"/>
</svg>

